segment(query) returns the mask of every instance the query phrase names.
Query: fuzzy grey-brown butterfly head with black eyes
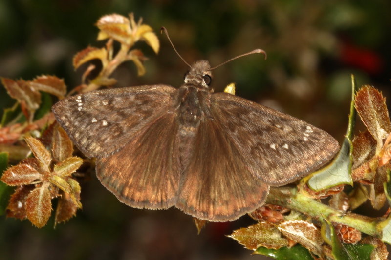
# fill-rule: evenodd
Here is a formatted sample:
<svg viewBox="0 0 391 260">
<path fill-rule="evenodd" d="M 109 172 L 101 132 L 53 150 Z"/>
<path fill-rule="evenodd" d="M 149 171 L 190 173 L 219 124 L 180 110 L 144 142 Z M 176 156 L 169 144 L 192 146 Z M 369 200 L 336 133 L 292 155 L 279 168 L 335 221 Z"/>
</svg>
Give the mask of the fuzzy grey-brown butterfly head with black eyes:
<svg viewBox="0 0 391 260">
<path fill-rule="evenodd" d="M 195 61 L 185 74 L 185 83 L 209 88 L 212 83 L 211 66 L 207 60 Z"/>
</svg>

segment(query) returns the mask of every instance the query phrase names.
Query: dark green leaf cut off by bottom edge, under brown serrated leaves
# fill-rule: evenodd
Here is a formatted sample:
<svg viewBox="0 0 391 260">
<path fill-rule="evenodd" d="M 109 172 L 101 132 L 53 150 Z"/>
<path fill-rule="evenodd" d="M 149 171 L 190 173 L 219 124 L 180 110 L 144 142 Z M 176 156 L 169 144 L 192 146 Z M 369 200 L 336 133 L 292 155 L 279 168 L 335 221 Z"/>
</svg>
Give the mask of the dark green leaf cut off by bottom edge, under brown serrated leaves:
<svg viewBox="0 0 391 260">
<path fill-rule="evenodd" d="M 258 247 L 254 254 L 265 255 L 278 260 L 313 260 L 309 251 L 301 246 L 295 245 L 291 248 L 282 247 L 280 249 L 268 249 L 266 247 Z"/>
</svg>

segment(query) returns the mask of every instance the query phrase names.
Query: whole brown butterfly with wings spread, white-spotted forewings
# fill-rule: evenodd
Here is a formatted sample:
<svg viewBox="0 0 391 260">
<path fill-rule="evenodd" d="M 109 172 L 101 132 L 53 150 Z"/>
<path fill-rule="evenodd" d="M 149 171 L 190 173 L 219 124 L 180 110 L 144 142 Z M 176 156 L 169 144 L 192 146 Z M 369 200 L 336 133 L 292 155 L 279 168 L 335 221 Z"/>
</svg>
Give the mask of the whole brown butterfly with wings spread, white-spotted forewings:
<svg viewBox="0 0 391 260">
<path fill-rule="evenodd" d="M 250 53 L 257 52 L 264 53 Z M 178 89 L 156 84 L 91 91 L 52 110 L 76 146 L 97 158 L 98 179 L 121 202 L 236 220 L 264 203 L 269 186 L 311 173 L 339 145 L 302 120 L 213 93 L 212 69 L 199 60 Z"/>
</svg>

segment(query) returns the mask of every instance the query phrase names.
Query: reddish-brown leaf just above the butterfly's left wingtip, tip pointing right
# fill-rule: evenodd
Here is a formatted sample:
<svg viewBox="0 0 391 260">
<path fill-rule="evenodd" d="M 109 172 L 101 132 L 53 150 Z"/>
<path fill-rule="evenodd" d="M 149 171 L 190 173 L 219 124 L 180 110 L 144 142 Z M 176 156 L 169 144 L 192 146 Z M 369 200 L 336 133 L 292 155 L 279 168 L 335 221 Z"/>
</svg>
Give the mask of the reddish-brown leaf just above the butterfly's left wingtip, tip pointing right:
<svg viewBox="0 0 391 260">
<path fill-rule="evenodd" d="M 59 99 L 64 98 L 66 94 L 66 85 L 63 79 L 55 76 L 42 75 L 29 81 L 31 87 L 36 90 L 50 93 L 57 96 Z"/>
</svg>

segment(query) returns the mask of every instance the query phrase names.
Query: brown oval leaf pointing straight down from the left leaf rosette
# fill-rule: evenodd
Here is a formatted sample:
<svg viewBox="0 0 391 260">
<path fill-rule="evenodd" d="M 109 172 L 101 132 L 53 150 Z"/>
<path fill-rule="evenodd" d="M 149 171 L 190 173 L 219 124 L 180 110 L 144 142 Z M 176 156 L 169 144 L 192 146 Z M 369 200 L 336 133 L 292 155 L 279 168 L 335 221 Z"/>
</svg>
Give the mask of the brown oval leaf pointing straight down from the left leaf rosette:
<svg viewBox="0 0 391 260">
<path fill-rule="evenodd" d="M 43 227 L 50 218 L 52 203 L 49 183 L 43 183 L 41 187 L 35 188 L 26 199 L 27 218 L 36 227 Z"/>
</svg>

